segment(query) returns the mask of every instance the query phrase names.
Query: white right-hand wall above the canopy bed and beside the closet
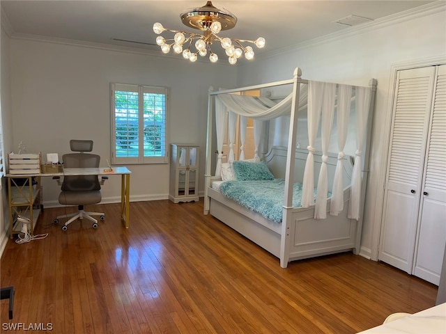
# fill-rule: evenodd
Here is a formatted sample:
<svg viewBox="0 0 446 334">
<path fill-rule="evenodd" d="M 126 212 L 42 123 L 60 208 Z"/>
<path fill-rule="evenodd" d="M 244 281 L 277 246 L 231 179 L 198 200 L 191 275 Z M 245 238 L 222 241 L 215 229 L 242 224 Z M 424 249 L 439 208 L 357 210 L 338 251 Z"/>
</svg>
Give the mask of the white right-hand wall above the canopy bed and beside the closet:
<svg viewBox="0 0 446 334">
<path fill-rule="evenodd" d="M 367 86 L 378 79 L 371 166 L 364 209 L 361 253 L 378 256 L 385 162 L 387 161 L 392 97 L 392 67 L 408 63 L 446 61 L 446 5 L 424 6 L 424 12 L 410 11 L 392 22 L 377 20 L 355 29 L 356 33 L 326 36 L 268 58 L 257 58 L 238 69 L 238 86 L 291 79 L 295 67 L 303 79 Z M 268 44 L 267 44 L 268 46 Z"/>
</svg>

